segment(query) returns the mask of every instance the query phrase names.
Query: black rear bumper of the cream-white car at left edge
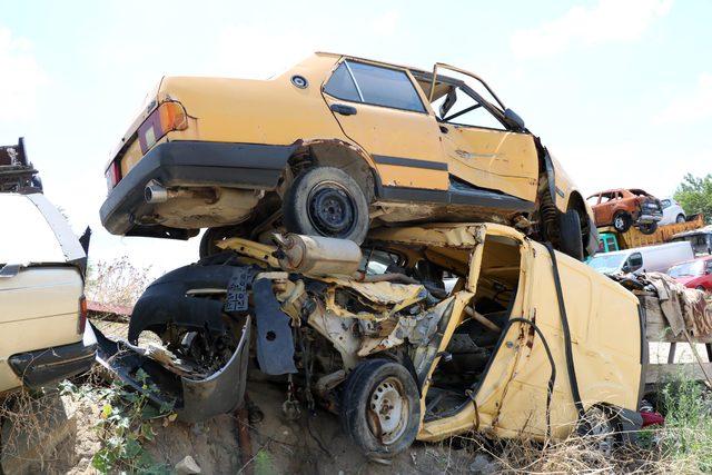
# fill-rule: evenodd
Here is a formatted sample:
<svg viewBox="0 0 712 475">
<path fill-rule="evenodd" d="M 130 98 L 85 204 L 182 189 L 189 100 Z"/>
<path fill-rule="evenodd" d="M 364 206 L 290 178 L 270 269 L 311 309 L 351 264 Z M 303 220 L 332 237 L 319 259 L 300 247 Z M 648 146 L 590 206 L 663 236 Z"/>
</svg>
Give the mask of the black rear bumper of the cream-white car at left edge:
<svg viewBox="0 0 712 475">
<path fill-rule="evenodd" d="M 11 356 L 8 363 L 24 386 L 38 389 L 88 370 L 96 353 L 97 339 L 87 325 L 81 342 L 20 353 Z"/>
</svg>

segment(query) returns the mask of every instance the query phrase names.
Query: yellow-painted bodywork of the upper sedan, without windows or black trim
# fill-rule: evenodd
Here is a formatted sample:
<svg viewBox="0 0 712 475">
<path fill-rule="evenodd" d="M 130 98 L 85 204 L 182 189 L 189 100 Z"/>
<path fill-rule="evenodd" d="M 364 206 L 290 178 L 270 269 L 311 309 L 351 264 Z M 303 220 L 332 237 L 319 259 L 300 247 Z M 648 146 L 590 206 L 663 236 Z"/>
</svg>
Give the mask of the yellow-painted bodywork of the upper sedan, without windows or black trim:
<svg viewBox="0 0 712 475">
<path fill-rule="evenodd" d="M 403 70 L 426 111 L 353 102 L 349 105 L 357 108 L 356 115 L 333 113 L 328 106 L 348 101 L 324 93 L 323 86 L 346 58 Z M 335 139 L 358 150 L 386 186 L 446 190 L 448 175 L 453 175 L 478 187 L 535 201 L 538 158 L 533 137 L 453 125 L 447 125 L 448 131 L 443 132 L 427 100 L 429 91 L 423 90 L 424 85 L 413 78 L 412 70 L 340 55 L 315 53 L 269 80 L 165 77 L 149 95 L 148 107 L 144 106 L 115 157 L 122 154 L 121 171 L 127 175 L 142 158 L 136 137 L 138 127 L 157 105 L 176 100 L 185 107 L 189 127 L 169 132 L 157 144 L 200 140 L 291 145 L 298 140 Z M 294 75 L 304 76 L 309 86 L 296 88 L 290 82 Z M 443 164 L 447 169 L 382 165 L 374 160 L 375 156 L 426 160 Z M 556 186 L 564 192 L 564 197 L 557 196 L 556 206 L 566 210 L 575 188 L 557 162 L 555 169 Z"/>
</svg>

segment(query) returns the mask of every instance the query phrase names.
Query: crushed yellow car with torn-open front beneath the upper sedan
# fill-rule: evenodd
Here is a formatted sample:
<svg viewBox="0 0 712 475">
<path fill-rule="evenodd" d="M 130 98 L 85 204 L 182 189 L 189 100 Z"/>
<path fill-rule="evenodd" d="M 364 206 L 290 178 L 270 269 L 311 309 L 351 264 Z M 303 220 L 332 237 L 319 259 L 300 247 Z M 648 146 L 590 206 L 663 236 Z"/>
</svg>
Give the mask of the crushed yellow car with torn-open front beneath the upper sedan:
<svg viewBox="0 0 712 475">
<path fill-rule="evenodd" d="M 147 289 L 123 346 L 99 335 L 107 367 L 128 380 L 144 369 L 186 420 L 238 407 L 251 372 L 281 378 L 293 415 L 338 414 L 373 457 L 469 431 L 563 438 L 592 412 L 612 433 L 640 427 L 639 300 L 513 228 L 221 247 Z M 169 362 L 120 352 L 146 330 Z"/>
</svg>

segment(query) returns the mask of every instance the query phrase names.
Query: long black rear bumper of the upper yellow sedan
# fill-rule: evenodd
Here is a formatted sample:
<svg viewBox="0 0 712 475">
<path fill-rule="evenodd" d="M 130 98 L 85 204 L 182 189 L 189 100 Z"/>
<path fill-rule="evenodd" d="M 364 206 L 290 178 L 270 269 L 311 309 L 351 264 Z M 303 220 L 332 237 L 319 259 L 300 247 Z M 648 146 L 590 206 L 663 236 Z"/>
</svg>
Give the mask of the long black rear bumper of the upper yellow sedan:
<svg viewBox="0 0 712 475">
<path fill-rule="evenodd" d="M 296 148 L 187 140 L 160 144 L 109 192 L 99 211 L 101 224 L 115 235 L 187 239 L 189 235 L 184 229 L 135 222 L 135 217 L 151 214 L 151 205 L 144 200 L 144 189 L 150 180 L 166 187 L 275 189 Z"/>
</svg>

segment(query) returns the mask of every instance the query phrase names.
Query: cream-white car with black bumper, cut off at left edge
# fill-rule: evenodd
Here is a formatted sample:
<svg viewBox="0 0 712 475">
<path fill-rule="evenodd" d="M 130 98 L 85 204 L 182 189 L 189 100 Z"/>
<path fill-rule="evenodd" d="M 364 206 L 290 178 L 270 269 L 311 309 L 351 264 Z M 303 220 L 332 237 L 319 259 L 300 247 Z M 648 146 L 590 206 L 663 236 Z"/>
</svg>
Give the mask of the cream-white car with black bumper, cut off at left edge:
<svg viewBox="0 0 712 475">
<path fill-rule="evenodd" d="M 87 254 L 43 195 L 0 194 L 0 396 L 91 367 Z"/>
</svg>

